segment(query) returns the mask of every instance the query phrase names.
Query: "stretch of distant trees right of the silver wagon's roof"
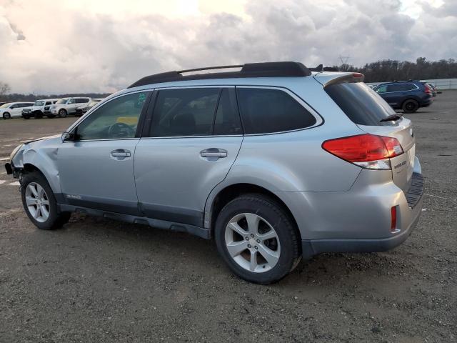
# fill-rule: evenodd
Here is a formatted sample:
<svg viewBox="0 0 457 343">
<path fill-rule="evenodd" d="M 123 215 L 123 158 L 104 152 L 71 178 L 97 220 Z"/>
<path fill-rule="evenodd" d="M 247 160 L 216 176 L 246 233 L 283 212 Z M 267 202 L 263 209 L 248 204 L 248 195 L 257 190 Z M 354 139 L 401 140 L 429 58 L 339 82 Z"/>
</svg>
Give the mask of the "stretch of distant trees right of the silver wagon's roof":
<svg viewBox="0 0 457 343">
<path fill-rule="evenodd" d="M 427 61 L 425 57 L 419 57 L 416 62 L 384 59 L 367 63 L 361 67 L 341 64 L 332 68 L 338 69 L 338 71 L 362 73 L 365 75 L 365 82 L 457 78 L 457 61 L 455 59 Z"/>
</svg>

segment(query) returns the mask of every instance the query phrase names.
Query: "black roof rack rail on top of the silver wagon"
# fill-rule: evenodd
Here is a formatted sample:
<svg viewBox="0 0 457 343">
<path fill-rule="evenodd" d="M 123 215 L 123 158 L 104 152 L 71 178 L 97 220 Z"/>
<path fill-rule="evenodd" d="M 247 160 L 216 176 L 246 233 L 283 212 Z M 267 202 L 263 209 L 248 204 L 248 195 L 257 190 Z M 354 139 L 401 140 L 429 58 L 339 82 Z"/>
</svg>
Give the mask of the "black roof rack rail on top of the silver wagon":
<svg viewBox="0 0 457 343">
<path fill-rule="evenodd" d="M 193 71 L 213 70 L 213 69 L 230 69 L 241 68 L 240 71 L 226 71 L 220 73 L 205 73 L 183 75 Z M 262 62 L 246 63 L 235 66 L 211 66 L 206 68 L 186 69 L 181 71 L 168 71 L 166 73 L 146 76 L 134 82 L 127 88 L 144 86 L 146 84 L 158 84 L 160 82 L 185 81 L 185 80 L 203 80 L 203 79 L 231 79 L 238 77 L 286 77 L 286 76 L 310 76 L 306 66 L 300 62 Z"/>
</svg>

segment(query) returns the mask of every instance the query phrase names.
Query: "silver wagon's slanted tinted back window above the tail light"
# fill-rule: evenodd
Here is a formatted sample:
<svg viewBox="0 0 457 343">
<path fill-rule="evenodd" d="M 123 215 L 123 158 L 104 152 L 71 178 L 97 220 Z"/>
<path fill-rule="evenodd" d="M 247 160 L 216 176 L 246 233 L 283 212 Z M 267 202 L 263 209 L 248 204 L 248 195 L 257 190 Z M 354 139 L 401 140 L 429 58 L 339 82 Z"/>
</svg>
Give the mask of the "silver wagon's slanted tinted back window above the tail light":
<svg viewBox="0 0 457 343">
<path fill-rule="evenodd" d="M 395 114 L 386 101 L 363 82 L 331 84 L 325 91 L 351 121 L 359 125 L 389 126 L 381 119 Z"/>
</svg>

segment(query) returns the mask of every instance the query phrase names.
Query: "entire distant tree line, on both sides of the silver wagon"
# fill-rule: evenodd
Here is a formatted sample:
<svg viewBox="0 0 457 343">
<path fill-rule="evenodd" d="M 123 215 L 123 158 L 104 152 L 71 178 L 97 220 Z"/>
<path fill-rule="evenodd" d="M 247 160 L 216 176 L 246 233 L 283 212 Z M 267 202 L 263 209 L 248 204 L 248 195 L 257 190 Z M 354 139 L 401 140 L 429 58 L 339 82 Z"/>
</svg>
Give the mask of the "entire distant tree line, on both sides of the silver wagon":
<svg viewBox="0 0 457 343">
<path fill-rule="evenodd" d="M 326 68 L 335 71 L 356 71 L 365 75 L 365 82 L 384 82 L 400 80 L 423 79 L 453 79 L 457 78 L 457 61 L 455 59 L 440 59 L 427 61 L 425 57 L 418 57 L 415 62 L 398 61 L 396 59 L 383 59 L 367 63 L 364 66 L 341 64 Z M 18 94 L 12 93 L 8 84 L 0 81 L 0 101 L 35 101 L 37 99 L 60 99 L 70 96 L 89 96 L 91 98 L 104 98 L 109 94 L 83 93 L 83 94 Z"/>
</svg>

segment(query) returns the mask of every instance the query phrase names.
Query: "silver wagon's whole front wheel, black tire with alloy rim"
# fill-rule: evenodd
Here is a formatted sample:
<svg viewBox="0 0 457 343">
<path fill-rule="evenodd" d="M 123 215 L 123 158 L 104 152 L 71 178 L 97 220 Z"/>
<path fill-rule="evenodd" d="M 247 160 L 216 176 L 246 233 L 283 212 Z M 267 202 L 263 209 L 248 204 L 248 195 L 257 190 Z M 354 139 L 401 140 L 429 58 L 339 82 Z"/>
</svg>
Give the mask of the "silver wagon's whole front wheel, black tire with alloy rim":
<svg viewBox="0 0 457 343">
<path fill-rule="evenodd" d="M 24 174 L 21 179 L 21 197 L 27 216 L 39 229 L 59 229 L 70 219 L 70 212 L 59 211 L 54 192 L 40 172 Z"/>
</svg>

